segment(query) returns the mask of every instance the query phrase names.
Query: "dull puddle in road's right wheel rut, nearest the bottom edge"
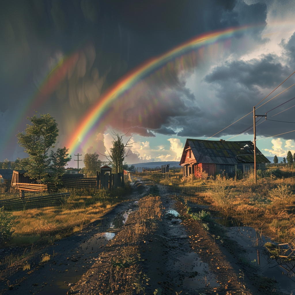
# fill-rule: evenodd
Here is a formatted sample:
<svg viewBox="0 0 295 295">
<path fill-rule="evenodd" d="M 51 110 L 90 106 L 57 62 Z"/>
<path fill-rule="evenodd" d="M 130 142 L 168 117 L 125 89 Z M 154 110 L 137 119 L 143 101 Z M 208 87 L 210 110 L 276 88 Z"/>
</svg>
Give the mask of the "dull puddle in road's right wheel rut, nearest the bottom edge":
<svg viewBox="0 0 295 295">
<path fill-rule="evenodd" d="M 192 252 L 177 258 L 178 261 L 174 264 L 174 268 L 182 271 L 186 278 L 183 285 L 190 289 L 200 289 L 207 285 L 211 287 L 219 286 L 214 274 L 209 271 L 209 266 L 204 263 L 199 256 Z"/>
</svg>

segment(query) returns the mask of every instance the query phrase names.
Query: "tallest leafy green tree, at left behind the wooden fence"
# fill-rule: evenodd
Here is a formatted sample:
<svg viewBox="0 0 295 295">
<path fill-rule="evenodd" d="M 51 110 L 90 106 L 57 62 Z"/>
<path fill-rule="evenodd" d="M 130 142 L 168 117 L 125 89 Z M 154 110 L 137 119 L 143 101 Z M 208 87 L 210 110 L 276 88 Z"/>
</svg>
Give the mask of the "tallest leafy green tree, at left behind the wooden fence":
<svg viewBox="0 0 295 295">
<path fill-rule="evenodd" d="M 50 114 L 40 114 L 40 117 L 34 115 L 27 119 L 32 125 L 27 124 L 25 131 L 17 134 L 19 146 L 29 155 L 23 164 L 28 176 L 42 182 L 50 165 L 47 152 L 49 148 L 54 148 L 53 144 L 58 136 L 58 124 Z"/>
</svg>

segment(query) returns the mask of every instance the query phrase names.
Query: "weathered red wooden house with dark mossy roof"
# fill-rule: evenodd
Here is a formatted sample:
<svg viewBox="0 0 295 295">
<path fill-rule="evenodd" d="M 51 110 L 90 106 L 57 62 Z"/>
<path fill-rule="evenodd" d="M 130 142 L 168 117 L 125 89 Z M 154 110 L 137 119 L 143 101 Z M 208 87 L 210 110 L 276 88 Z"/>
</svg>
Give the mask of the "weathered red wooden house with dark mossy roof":
<svg viewBox="0 0 295 295">
<path fill-rule="evenodd" d="M 256 167 L 264 168 L 270 161 L 256 147 Z M 216 174 L 235 176 L 237 169 L 246 174 L 254 168 L 254 144 L 252 141 L 225 141 L 187 139 L 180 164 L 183 176 L 194 174 L 201 178 Z"/>
</svg>

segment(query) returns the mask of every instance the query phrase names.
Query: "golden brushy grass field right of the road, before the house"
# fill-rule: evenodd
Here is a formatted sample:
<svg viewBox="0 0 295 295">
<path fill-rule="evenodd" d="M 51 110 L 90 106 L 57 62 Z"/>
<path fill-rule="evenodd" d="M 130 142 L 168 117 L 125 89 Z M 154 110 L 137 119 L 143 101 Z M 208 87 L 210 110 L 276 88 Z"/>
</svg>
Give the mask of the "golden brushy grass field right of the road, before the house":
<svg viewBox="0 0 295 295">
<path fill-rule="evenodd" d="M 241 180 L 217 176 L 207 180 L 182 177 L 171 170 L 169 177 L 161 173 L 141 173 L 143 178 L 173 187 L 188 203 L 207 204 L 213 214 L 232 218 L 237 225 L 253 227 L 260 234 L 279 243 L 295 236 L 295 178 L 293 167 L 269 167 Z"/>
</svg>

